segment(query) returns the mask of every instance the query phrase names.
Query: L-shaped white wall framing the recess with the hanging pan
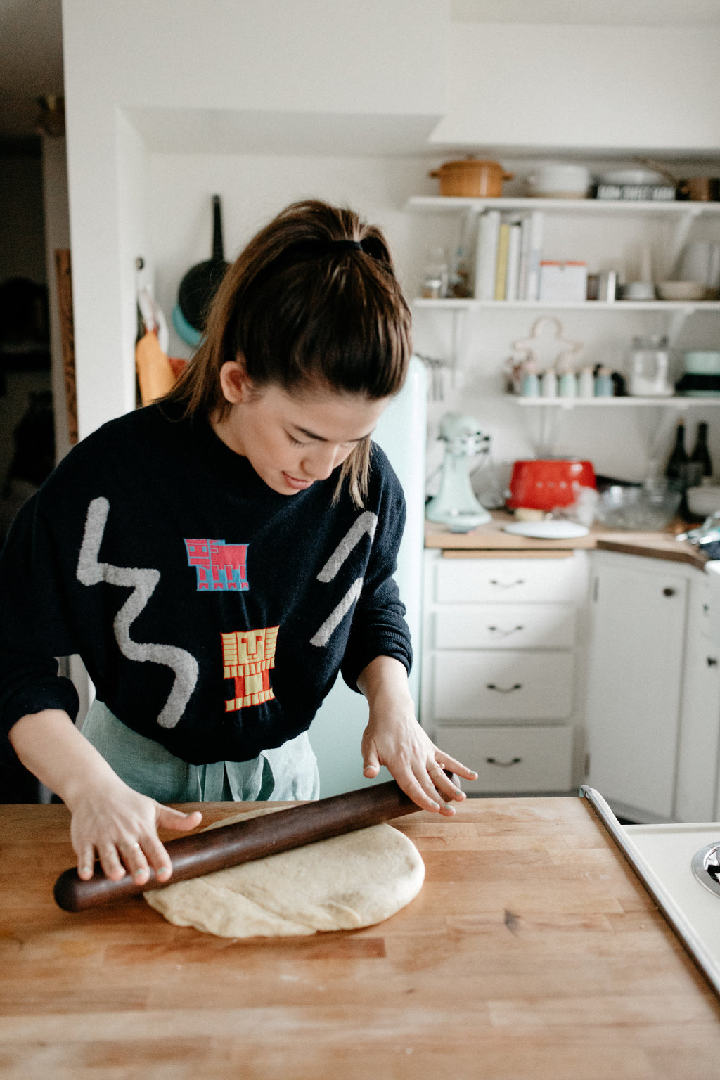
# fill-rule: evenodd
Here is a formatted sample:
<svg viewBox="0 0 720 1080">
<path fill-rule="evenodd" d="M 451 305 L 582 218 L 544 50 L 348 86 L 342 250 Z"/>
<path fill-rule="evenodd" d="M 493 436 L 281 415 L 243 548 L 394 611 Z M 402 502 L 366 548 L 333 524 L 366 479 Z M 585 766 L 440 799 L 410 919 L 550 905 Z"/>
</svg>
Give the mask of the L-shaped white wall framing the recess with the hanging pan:
<svg viewBox="0 0 720 1080">
<path fill-rule="evenodd" d="M 133 245 L 152 264 L 137 124 L 151 137 L 168 110 L 190 110 L 200 126 L 235 110 L 267 116 L 271 132 L 284 113 L 296 133 L 307 117 L 317 134 L 328 113 L 347 127 L 358 119 L 365 147 L 369 117 L 384 145 L 391 117 L 398 131 L 421 121 L 426 136 L 443 112 L 447 2 L 64 0 L 63 36 L 83 436 L 134 405 Z M 142 113 L 135 123 L 133 110 Z"/>
</svg>

